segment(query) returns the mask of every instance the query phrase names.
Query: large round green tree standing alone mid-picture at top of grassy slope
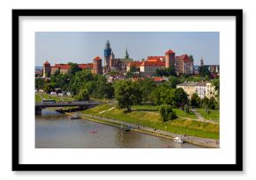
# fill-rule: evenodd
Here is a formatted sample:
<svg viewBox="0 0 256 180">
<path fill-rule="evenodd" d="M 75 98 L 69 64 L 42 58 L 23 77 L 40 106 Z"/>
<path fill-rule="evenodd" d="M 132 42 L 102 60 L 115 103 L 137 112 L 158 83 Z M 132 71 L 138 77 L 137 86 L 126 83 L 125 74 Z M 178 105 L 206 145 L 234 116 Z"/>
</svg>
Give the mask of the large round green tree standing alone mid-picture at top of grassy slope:
<svg viewBox="0 0 256 180">
<path fill-rule="evenodd" d="M 132 105 L 141 103 L 141 90 L 138 83 L 118 81 L 115 83 L 114 89 L 118 106 L 126 107 L 128 112 L 131 112 Z"/>
</svg>

